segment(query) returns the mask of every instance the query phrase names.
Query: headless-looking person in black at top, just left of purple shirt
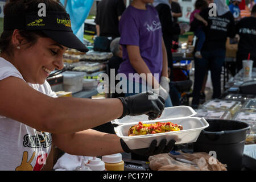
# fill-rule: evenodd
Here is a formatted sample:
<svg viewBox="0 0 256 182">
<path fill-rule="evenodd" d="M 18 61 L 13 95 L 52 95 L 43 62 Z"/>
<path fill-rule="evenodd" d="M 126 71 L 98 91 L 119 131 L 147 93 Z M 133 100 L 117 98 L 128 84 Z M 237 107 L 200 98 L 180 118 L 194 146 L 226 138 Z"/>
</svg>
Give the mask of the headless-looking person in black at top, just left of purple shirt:
<svg viewBox="0 0 256 182">
<path fill-rule="evenodd" d="M 97 36 L 106 36 L 112 39 L 119 37 L 118 24 L 123 11 L 125 11 L 124 0 L 102 0 L 99 2 L 95 19 Z"/>
</svg>

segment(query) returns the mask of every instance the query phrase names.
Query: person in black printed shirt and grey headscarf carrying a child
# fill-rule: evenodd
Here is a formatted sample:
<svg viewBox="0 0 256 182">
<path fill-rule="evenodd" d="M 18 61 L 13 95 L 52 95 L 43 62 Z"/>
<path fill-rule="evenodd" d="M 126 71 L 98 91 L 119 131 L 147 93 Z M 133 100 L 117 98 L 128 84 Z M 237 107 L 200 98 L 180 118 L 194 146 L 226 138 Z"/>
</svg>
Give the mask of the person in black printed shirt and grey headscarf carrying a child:
<svg viewBox="0 0 256 182">
<path fill-rule="evenodd" d="M 195 81 L 193 86 L 192 107 L 197 108 L 200 100 L 200 90 L 203 85 L 205 74 L 210 69 L 213 98 L 221 96 L 221 69 L 226 56 L 226 38 L 234 38 L 235 24 L 234 17 L 229 11 L 225 0 L 215 0 L 217 16 L 212 16 L 212 9 L 207 8 L 201 11 L 200 15 L 207 20 L 208 26 L 203 27 L 205 31 L 205 42 L 201 50 L 202 59 L 195 57 Z M 211 16 L 210 16 L 211 15 Z M 203 25 L 195 19 L 191 23 L 191 30 Z"/>
</svg>

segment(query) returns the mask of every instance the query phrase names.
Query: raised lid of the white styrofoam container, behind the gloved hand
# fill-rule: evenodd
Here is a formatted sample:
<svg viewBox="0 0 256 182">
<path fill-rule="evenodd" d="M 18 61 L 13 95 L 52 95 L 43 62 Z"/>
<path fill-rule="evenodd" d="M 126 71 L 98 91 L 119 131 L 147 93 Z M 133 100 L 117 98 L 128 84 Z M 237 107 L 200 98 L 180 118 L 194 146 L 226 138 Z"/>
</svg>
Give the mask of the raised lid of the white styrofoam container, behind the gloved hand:
<svg viewBox="0 0 256 182">
<path fill-rule="evenodd" d="M 166 107 L 160 118 L 155 119 L 154 121 L 158 121 L 159 119 L 173 119 L 173 118 L 184 118 L 184 117 L 192 117 L 196 115 L 196 111 L 189 106 L 176 106 L 176 107 Z M 148 115 L 137 115 L 130 116 L 127 115 L 122 119 L 114 119 L 112 121 L 113 124 L 123 125 L 126 123 L 139 122 L 139 121 L 148 121 Z"/>
</svg>

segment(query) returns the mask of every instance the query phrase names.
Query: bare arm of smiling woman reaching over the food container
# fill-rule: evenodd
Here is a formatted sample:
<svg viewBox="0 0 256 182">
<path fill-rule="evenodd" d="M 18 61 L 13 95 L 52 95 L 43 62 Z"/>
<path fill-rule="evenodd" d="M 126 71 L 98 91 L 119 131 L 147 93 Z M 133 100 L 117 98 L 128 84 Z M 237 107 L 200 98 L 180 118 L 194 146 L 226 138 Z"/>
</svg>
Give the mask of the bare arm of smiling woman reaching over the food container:
<svg viewBox="0 0 256 182">
<path fill-rule="evenodd" d="M 0 115 L 49 133 L 90 129 L 119 118 L 123 113 L 118 98 L 52 98 L 16 77 L 0 81 L 0 100 Z"/>
</svg>

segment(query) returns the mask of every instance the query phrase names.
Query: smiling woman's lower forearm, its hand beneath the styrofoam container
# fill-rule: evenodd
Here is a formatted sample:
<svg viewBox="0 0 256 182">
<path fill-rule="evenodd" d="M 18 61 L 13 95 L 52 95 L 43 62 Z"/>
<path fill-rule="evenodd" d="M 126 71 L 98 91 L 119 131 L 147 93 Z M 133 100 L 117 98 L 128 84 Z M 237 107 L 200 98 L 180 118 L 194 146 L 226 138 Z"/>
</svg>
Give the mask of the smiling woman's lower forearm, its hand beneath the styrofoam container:
<svg viewBox="0 0 256 182">
<path fill-rule="evenodd" d="M 123 152 L 117 135 L 91 129 L 72 134 L 52 134 L 52 141 L 71 155 L 102 156 Z"/>
</svg>

